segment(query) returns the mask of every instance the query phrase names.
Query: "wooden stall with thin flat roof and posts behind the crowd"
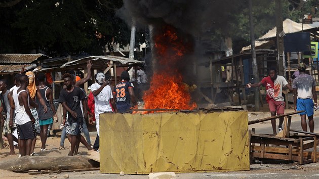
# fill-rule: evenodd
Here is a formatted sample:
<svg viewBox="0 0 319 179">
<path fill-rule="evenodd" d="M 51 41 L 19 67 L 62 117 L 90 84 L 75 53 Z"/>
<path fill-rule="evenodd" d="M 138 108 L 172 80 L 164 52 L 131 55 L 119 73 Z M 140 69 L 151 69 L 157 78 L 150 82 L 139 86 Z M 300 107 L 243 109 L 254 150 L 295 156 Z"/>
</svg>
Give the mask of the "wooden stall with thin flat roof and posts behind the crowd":
<svg viewBox="0 0 319 179">
<path fill-rule="evenodd" d="M 78 60 L 73 60 L 64 63 L 63 65 L 52 67 L 52 68 L 43 68 L 42 70 L 37 71 L 36 73 L 43 72 L 52 72 L 52 78 L 53 78 L 53 98 L 57 99 L 59 98 L 59 93 L 61 90 L 61 87 L 57 86 L 57 83 L 60 83 L 62 86 L 62 80 L 61 78 L 57 78 L 57 75 L 60 77 L 62 74 L 67 72 L 68 70 L 75 70 L 75 71 L 82 71 L 84 73 L 84 76 L 87 76 L 87 62 L 92 61 L 92 69 L 91 69 L 91 83 L 95 82 L 94 74 L 97 71 L 103 71 L 104 73 L 109 72 L 111 76 L 113 76 L 114 83 L 119 82 L 121 80 L 119 76 L 121 76 L 122 71 L 129 70 L 132 67 L 141 65 L 142 61 L 137 61 L 129 58 L 124 57 L 116 57 L 116 56 L 90 56 L 85 57 Z M 57 80 L 59 79 L 59 80 Z M 90 81 L 88 81 L 90 82 Z M 84 84 L 84 89 L 86 92 L 88 92 L 88 86 L 89 83 L 86 82 Z"/>
</svg>

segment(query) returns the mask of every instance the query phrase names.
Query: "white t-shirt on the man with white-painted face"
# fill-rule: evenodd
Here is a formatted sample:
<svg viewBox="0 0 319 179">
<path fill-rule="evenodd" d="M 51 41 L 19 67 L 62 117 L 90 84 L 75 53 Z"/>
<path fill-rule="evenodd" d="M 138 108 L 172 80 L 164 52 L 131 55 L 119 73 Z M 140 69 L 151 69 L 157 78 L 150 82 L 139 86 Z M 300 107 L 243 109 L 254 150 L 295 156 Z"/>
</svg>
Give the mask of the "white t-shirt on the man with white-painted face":
<svg viewBox="0 0 319 179">
<path fill-rule="evenodd" d="M 100 88 L 101 85 L 98 83 L 94 83 L 91 85 L 91 92 L 97 91 L 98 88 Z M 99 114 L 104 112 L 112 112 L 112 108 L 110 105 L 110 99 L 113 98 L 112 95 L 112 89 L 109 85 L 106 85 L 100 94 L 98 94 L 96 97 L 94 97 L 95 101 L 95 117 L 99 117 Z"/>
</svg>

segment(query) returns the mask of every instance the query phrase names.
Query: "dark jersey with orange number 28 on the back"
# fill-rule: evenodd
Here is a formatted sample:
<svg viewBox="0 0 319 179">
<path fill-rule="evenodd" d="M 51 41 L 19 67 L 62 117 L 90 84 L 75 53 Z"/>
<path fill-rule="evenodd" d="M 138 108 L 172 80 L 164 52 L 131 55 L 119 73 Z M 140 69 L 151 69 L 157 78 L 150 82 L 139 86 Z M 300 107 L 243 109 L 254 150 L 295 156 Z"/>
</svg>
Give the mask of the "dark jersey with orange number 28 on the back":
<svg viewBox="0 0 319 179">
<path fill-rule="evenodd" d="M 129 81 L 121 81 L 115 85 L 114 92 L 117 110 L 127 110 L 131 108 L 130 87 L 134 88 L 134 85 Z"/>
</svg>

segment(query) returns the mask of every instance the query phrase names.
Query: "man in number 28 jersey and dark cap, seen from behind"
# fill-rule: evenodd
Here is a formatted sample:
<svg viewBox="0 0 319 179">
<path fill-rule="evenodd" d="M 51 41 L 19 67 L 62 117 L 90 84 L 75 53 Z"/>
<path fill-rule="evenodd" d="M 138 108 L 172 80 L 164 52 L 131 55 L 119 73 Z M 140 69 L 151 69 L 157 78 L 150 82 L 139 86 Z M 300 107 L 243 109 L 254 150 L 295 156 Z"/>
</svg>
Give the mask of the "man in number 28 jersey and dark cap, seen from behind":
<svg viewBox="0 0 319 179">
<path fill-rule="evenodd" d="M 135 106 L 137 104 L 134 95 L 134 85 L 130 82 L 130 75 L 127 71 L 121 74 L 122 81 L 116 84 L 114 88 L 115 104 L 117 112 L 126 113 L 131 108 L 131 101 Z"/>
</svg>

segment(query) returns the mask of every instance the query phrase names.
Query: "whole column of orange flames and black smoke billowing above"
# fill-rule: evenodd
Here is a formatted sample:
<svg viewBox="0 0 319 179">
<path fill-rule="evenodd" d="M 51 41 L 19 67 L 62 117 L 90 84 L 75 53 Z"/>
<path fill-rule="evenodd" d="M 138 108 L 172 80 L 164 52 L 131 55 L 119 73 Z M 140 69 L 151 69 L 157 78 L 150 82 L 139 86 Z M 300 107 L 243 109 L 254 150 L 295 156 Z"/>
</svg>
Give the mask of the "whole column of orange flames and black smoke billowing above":
<svg viewBox="0 0 319 179">
<path fill-rule="evenodd" d="M 143 93 L 144 109 L 193 110 L 197 107 L 187 87 L 194 86 L 191 82 L 195 76 L 191 73 L 196 51 L 194 39 L 214 26 L 220 28 L 226 24 L 221 17 L 228 16 L 233 8 L 229 5 L 235 2 L 124 1 L 119 14 L 128 24 L 134 20 L 139 26 L 151 27 L 153 75 L 150 88 Z M 227 7 L 228 12 L 222 10 L 223 7 Z"/>
</svg>

